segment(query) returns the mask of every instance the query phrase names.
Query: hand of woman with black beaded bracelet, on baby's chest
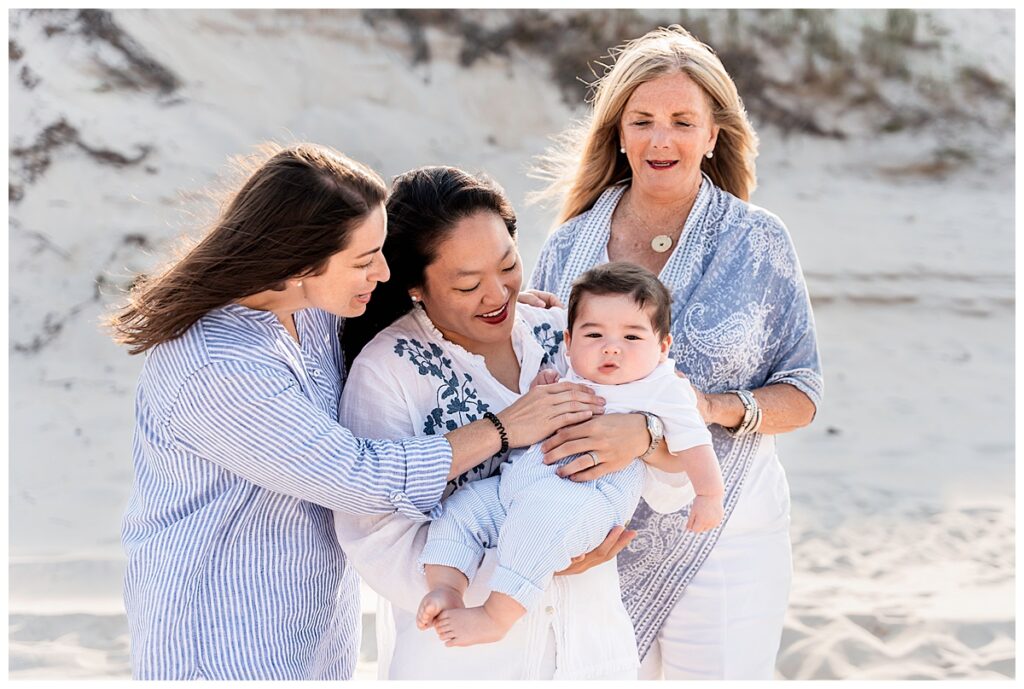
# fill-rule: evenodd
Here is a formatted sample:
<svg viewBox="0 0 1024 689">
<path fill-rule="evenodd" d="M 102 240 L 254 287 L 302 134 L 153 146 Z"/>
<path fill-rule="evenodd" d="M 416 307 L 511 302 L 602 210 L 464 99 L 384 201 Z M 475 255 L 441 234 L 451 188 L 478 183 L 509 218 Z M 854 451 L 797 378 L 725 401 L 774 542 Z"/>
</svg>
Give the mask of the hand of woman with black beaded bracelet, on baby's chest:
<svg viewBox="0 0 1024 689">
<path fill-rule="evenodd" d="M 586 385 L 552 383 L 537 385 L 498 413 L 508 433 L 510 447 L 540 442 L 559 428 L 604 414 L 604 398 Z"/>
</svg>

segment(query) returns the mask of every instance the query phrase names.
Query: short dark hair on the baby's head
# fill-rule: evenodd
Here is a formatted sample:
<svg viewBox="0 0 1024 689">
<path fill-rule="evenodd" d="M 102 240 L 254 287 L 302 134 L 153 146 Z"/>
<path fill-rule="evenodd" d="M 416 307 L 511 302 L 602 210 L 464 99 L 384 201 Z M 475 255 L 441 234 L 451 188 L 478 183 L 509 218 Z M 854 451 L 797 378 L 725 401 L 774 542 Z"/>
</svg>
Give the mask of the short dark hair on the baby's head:
<svg viewBox="0 0 1024 689">
<path fill-rule="evenodd" d="M 672 329 L 672 294 L 662 285 L 657 275 L 647 268 L 626 261 L 614 261 L 591 268 L 572 283 L 569 292 L 568 329 L 572 332 L 580 301 L 588 295 L 621 294 L 633 297 L 640 308 L 653 306 L 650 312 L 651 328 L 658 337 L 666 337 Z"/>
</svg>

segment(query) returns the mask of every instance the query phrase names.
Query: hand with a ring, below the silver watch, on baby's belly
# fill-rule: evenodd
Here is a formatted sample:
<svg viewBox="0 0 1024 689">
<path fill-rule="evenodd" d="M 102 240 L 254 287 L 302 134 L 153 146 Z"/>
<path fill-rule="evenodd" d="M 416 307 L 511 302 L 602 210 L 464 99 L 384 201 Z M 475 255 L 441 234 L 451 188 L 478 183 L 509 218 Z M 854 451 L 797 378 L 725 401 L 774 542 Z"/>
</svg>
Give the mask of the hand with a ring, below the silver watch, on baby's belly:
<svg viewBox="0 0 1024 689">
<path fill-rule="evenodd" d="M 608 414 L 566 426 L 541 445 L 544 463 L 554 464 L 580 455 L 556 472 L 573 481 L 593 481 L 625 469 L 650 444 L 647 421 L 640 414 Z M 581 455 L 581 453 L 583 453 Z M 591 454 L 593 453 L 593 455 Z M 597 455 L 597 464 L 594 464 Z"/>
</svg>

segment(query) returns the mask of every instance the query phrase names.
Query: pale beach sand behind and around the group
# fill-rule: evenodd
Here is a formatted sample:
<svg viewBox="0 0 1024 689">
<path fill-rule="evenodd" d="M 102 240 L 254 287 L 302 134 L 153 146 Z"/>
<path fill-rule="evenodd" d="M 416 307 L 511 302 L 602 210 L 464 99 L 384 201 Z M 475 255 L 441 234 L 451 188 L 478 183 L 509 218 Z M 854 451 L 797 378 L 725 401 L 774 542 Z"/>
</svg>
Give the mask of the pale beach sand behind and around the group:
<svg viewBox="0 0 1024 689">
<path fill-rule="evenodd" d="M 242 12 L 116 16 L 184 81 L 178 100 L 100 90 L 99 48 L 44 36 L 41 19 L 11 32 L 25 54 L 17 64 L 42 79 L 32 88 L 12 80 L 12 145 L 59 117 L 92 146 L 153 147 L 144 163 L 121 167 L 57 147 L 11 206 L 15 680 L 128 677 L 119 520 L 140 361 L 96 322 L 113 283 L 154 265 L 188 226 L 181 209 L 198 207 L 196 191 L 224 157 L 294 134 L 387 175 L 442 162 L 485 169 L 520 212 L 529 268 L 550 213 L 524 206 L 537 188 L 524 170 L 574 114 L 541 81 L 538 60 L 513 50 L 462 68 L 457 42 L 433 30 L 433 61 L 409 69 L 404 38 L 375 36 L 354 14 L 317 19 L 319 33 L 299 15 L 278 25 Z M 1006 51 L 997 18 L 971 13 L 961 31 Z M 310 104 L 315 79 L 292 76 L 314 62 L 347 71 Z M 255 64 L 266 73 L 257 78 Z M 452 113 L 457 99 L 469 104 Z M 508 116 L 526 101 L 527 115 Z M 1013 133 L 978 130 L 987 155 L 950 169 L 928 164 L 935 133 L 760 134 L 754 202 L 793 234 L 825 375 L 814 423 L 778 441 L 794 549 L 778 677 L 1013 678 Z M 376 676 L 373 609 L 368 595 L 362 679 Z"/>
</svg>

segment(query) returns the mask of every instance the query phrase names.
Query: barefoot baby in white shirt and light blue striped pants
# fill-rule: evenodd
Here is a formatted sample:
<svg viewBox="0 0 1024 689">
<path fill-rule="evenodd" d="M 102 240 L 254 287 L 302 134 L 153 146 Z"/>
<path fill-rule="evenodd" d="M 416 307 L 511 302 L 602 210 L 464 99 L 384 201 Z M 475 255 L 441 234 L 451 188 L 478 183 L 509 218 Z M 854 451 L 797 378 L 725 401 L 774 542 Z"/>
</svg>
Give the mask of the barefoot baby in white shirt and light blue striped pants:
<svg viewBox="0 0 1024 689">
<path fill-rule="evenodd" d="M 569 296 L 566 380 L 593 387 L 607 400 L 606 412 L 647 413 L 660 421 L 672 457 L 659 467 L 686 472 L 696 492 L 688 526 L 703 531 L 722 521 L 724 487 L 693 389 L 668 358 L 671 301 L 653 273 L 629 263 L 582 274 Z M 574 458 L 552 466 L 542 458 L 540 444 L 513 455 L 500 476 L 453 493 L 431 523 L 420 556 L 430 592 L 417 623 L 434 627 L 446 645 L 503 638 L 541 599 L 554 572 L 596 548 L 636 510 L 646 471 L 641 461 L 575 482 L 555 473 Z M 484 549 L 494 546 L 498 566 L 490 594 L 482 606 L 466 608 L 469 580 Z"/>
</svg>

